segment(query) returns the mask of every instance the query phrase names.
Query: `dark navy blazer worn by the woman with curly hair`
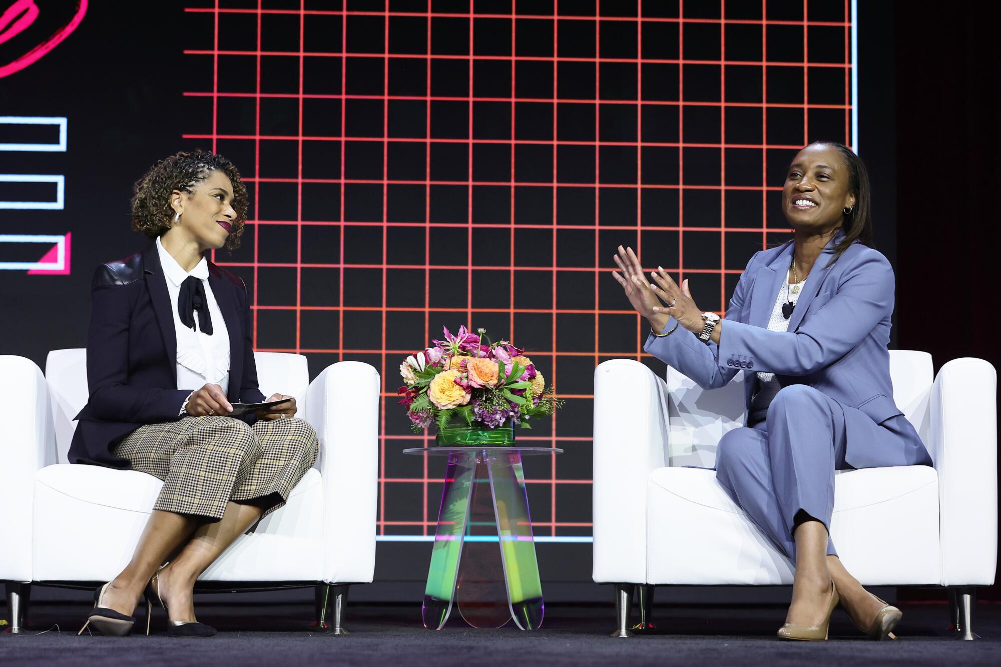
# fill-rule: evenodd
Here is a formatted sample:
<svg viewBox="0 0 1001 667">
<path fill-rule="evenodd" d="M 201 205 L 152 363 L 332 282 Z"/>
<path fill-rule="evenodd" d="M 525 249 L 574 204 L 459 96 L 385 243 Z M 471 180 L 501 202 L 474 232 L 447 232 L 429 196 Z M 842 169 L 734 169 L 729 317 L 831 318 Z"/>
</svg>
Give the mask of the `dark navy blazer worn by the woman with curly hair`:
<svg viewBox="0 0 1001 667">
<path fill-rule="evenodd" d="M 208 284 L 229 332 L 230 403 L 260 403 L 246 284 L 208 262 Z M 110 450 L 145 424 L 175 422 L 191 390 L 177 389 L 173 304 L 156 244 L 101 264 L 91 285 L 87 332 L 90 398 L 80 414 L 69 462 L 128 469 Z M 200 389 L 200 388 L 194 388 Z M 253 415 L 244 421 L 253 423 Z"/>
</svg>

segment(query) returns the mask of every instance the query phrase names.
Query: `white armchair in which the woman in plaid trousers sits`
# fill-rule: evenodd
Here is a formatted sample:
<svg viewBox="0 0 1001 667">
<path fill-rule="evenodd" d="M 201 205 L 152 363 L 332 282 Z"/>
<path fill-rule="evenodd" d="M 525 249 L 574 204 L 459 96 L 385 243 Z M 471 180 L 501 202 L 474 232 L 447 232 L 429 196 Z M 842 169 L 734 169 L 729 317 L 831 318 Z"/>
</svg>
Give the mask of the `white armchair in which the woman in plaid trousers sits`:
<svg viewBox="0 0 1001 667">
<path fill-rule="evenodd" d="M 313 586 L 318 625 L 329 627 L 332 600 L 339 634 L 347 587 L 371 582 L 375 567 L 379 376 L 367 364 L 341 362 L 310 383 L 300 355 L 254 359 L 264 396 L 295 397 L 319 457 L 285 506 L 223 553 L 196 590 Z M 50 353 L 44 378 L 31 361 L 0 356 L 0 402 L 24 415 L 6 420 L 0 434 L 0 507 L 8 510 L 0 581 L 8 582 L 14 632 L 32 584 L 96 586 L 120 572 L 162 486 L 144 473 L 67 463 L 72 420 L 87 396 L 85 350 Z"/>
</svg>

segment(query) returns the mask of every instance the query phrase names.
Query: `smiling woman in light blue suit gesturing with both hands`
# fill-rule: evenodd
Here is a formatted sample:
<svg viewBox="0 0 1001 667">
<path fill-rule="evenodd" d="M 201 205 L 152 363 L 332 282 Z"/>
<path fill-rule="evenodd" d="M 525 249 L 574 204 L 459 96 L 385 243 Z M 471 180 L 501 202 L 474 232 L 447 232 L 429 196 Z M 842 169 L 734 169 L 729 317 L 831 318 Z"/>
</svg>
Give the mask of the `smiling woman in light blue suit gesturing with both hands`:
<svg viewBox="0 0 1001 667">
<path fill-rule="evenodd" d="M 893 402 L 894 275 L 871 247 L 865 165 L 840 143 L 810 144 L 789 167 L 782 209 L 793 240 L 751 257 L 724 319 L 663 267 L 648 281 L 632 248 L 619 247 L 613 275 L 650 321 L 647 352 L 703 389 L 747 377 L 747 426 L 720 442 L 717 479 L 795 561 L 779 636 L 826 639 L 840 599 L 860 629 L 885 639 L 900 611 L 862 588 L 829 536 L 834 471 L 931 459 Z"/>
</svg>

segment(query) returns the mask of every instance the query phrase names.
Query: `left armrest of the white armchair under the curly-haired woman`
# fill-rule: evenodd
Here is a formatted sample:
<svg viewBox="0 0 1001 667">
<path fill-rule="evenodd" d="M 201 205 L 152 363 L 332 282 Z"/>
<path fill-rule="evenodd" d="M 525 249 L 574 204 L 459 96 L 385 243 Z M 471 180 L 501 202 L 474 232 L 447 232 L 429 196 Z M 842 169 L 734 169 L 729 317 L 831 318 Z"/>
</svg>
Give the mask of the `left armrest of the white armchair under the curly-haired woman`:
<svg viewBox="0 0 1001 667">
<path fill-rule="evenodd" d="M 31 523 L 35 473 L 56 462 L 48 386 L 41 370 L 23 357 L 0 356 L 0 405 L 21 406 L 0 434 L 0 507 L 4 548 L 0 580 L 31 581 Z"/>
</svg>

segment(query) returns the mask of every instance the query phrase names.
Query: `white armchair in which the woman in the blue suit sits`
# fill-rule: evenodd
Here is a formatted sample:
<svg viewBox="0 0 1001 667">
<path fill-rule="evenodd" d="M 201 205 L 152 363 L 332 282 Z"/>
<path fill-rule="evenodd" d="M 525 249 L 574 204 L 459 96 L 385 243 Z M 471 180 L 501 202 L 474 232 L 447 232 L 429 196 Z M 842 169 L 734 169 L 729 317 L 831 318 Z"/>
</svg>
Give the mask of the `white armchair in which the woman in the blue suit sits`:
<svg viewBox="0 0 1001 667">
<path fill-rule="evenodd" d="M 949 587 L 953 624 L 972 639 L 974 587 L 994 582 L 997 563 L 997 375 L 957 359 L 932 382 L 931 356 L 910 351 L 891 352 L 890 372 L 934 468 L 839 472 L 831 533 L 863 585 Z M 636 586 L 645 627 L 655 586 L 792 583 L 792 563 L 716 473 L 683 468 L 712 468 L 743 413 L 742 374 L 703 392 L 670 367 L 666 382 L 630 360 L 595 370 L 593 577 L 616 584 L 616 636 L 630 636 Z"/>
</svg>

